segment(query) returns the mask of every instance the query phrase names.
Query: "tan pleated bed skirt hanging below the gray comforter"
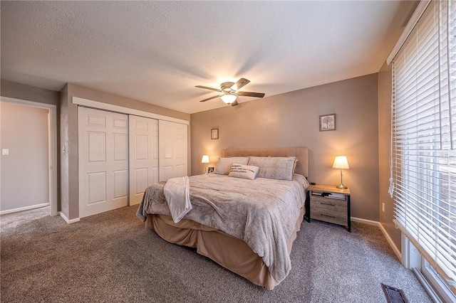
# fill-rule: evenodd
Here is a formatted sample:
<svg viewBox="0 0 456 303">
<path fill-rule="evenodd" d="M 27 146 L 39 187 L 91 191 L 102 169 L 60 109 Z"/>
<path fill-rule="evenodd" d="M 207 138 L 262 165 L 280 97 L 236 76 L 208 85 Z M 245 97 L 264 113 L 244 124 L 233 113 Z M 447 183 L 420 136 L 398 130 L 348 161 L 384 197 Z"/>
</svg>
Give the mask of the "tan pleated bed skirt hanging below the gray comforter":
<svg viewBox="0 0 456 303">
<path fill-rule="evenodd" d="M 301 208 L 293 233 L 287 241 L 289 254 L 303 218 L 304 208 Z M 210 228 L 188 219 L 174 223 L 170 216 L 151 214 L 147 215 L 146 227 L 152 228 L 157 235 L 170 243 L 196 248 L 200 255 L 209 257 L 255 285 L 269 290 L 278 285 L 269 273 L 263 259 L 253 252 L 244 240 L 234 238 L 222 230 Z"/>
</svg>

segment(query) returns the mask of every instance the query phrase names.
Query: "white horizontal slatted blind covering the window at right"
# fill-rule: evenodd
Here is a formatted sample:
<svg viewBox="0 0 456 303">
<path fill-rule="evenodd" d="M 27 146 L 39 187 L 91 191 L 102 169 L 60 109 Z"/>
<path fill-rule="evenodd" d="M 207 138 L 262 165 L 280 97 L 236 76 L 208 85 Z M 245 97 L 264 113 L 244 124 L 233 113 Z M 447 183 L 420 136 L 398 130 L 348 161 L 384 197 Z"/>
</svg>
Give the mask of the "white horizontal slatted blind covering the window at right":
<svg viewBox="0 0 456 303">
<path fill-rule="evenodd" d="M 395 223 L 456 293 L 456 1 L 431 1 L 393 60 Z"/>
</svg>

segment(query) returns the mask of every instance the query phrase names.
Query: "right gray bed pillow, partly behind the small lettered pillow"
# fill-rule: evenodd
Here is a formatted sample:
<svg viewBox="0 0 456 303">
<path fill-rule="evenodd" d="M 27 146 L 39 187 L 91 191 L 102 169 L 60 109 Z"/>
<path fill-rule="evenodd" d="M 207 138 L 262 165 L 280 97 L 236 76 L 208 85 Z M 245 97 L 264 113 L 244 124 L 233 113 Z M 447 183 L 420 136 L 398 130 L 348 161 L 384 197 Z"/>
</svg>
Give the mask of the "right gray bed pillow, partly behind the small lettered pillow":
<svg viewBox="0 0 456 303">
<path fill-rule="evenodd" d="M 291 180 L 295 160 L 296 156 L 251 156 L 249 165 L 259 167 L 259 178 Z"/>
</svg>

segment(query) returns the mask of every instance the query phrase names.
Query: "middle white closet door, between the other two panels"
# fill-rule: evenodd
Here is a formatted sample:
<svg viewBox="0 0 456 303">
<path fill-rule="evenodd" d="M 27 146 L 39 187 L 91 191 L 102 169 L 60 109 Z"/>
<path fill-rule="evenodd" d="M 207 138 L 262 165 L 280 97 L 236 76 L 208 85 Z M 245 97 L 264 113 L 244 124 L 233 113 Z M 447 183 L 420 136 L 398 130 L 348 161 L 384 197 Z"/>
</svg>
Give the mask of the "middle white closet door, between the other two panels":
<svg viewBox="0 0 456 303">
<path fill-rule="evenodd" d="M 145 188 L 158 182 L 158 120 L 129 116 L 130 205 L 141 202 Z"/>
</svg>

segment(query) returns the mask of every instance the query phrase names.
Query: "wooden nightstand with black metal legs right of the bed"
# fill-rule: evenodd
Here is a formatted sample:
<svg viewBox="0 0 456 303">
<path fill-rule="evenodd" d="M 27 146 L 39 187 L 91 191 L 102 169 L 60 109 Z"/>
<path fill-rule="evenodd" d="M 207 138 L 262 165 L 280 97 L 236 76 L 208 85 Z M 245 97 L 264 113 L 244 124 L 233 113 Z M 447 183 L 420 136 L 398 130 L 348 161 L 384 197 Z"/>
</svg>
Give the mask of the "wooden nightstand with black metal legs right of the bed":
<svg viewBox="0 0 456 303">
<path fill-rule="evenodd" d="M 311 185 L 309 191 L 310 217 L 314 220 L 345 225 L 351 233 L 350 190 L 330 185 Z"/>
</svg>

